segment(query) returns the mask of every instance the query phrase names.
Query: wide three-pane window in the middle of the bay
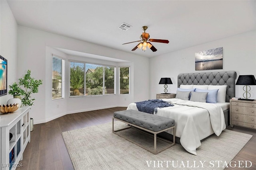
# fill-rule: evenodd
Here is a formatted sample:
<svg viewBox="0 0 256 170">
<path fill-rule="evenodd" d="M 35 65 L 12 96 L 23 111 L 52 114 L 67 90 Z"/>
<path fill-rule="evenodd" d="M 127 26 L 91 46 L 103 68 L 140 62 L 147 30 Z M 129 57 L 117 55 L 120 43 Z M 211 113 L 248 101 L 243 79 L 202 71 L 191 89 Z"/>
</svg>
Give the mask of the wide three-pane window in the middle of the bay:
<svg viewBox="0 0 256 170">
<path fill-rule="evenodd" d="M 115 70 L 112 66 L 70 62 L 70 96 L 115 94 Z"/>
</svg>

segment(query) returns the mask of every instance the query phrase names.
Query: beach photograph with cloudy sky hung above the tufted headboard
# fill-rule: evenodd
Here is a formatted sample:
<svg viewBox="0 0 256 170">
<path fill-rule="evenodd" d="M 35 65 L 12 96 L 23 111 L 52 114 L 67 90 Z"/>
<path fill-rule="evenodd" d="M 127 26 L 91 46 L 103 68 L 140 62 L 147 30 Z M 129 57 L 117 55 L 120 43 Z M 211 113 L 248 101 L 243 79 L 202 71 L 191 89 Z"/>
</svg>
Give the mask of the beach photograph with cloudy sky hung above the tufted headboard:
<svg viewBox="0 0 256 170">
<path fill-rule="evenodd" d="M 195 53 L 196 70 L 223 69 L 223 47 Z"/>
</svg>

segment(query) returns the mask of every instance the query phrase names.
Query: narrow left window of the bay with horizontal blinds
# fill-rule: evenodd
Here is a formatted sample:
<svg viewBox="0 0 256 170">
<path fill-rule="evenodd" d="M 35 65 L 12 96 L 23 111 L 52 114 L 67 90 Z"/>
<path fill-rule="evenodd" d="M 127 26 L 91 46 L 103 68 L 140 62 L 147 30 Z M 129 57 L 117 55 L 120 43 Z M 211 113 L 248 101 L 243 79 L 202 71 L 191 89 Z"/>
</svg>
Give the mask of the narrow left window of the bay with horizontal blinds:
<svg viewBox="0 0 256 170">
<path fill-rule="evenodd" d="M 52 55 L 52 100 L 64 98 L 65 61 Z"/>
</svg>

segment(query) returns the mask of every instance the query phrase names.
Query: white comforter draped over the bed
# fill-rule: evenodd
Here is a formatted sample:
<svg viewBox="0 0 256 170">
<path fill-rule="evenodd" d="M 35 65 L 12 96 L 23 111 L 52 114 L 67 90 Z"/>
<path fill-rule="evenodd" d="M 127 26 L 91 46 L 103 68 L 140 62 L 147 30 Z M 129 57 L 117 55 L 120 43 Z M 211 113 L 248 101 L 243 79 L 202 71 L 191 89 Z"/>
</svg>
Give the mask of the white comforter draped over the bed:
<svg viewBox="0 0 256 170">
<path fill-rule="evenodd" d="M 196 155 L 196 148 L 201 146 L 200 140 L 213 133 L 219 136 L 226 129 L 223 110 L 216 104 L 176 98 L 162 100 L 174 106 L 158 108 L 156 114 L 175 120 L 176 136 L 180 137 L 182 147 L 192 154 Z M 138 110 L 135 103 L 129 104 L 127 109 Z"/>
</svg>

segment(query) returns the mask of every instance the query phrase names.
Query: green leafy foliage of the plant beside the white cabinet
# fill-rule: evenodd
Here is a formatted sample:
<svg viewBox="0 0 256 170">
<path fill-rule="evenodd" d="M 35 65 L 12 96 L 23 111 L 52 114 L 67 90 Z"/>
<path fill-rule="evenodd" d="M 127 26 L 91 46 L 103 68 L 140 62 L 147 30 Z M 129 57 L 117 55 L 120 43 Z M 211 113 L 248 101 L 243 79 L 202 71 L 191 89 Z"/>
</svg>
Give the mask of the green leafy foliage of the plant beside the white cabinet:
<svg viewBox="0 0 256 170">
<path fill-rule="evenodd" d="M 42 80 L 35 80 L 30 75 L 31 71 L 28 70 L 23 78 L 19 78 L 18 84 L 14 82 L 9 86 L 9 94 L 22 96 L 21 101 L 24 106 L 33 105 L 35 99 L 31 97 L 31 94 L 38 93 L 38 87 L 42 84 Z"/>
</svg>

